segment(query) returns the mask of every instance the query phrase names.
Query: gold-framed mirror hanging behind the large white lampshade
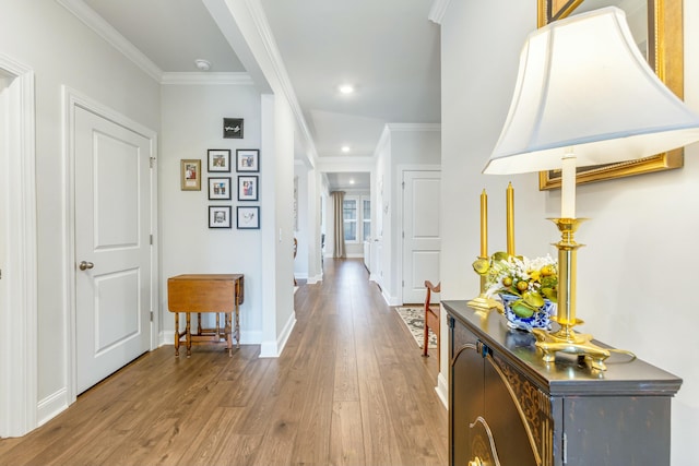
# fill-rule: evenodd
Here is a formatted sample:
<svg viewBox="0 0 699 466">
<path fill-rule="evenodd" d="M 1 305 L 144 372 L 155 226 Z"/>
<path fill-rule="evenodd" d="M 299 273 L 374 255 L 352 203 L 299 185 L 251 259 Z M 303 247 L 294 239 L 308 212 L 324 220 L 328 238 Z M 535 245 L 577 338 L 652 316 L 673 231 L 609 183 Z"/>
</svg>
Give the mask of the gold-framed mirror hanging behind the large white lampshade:
<svg viewBox="0 0 699 466">
<path fill-rule="evenodd" d="M 615 5 L 624 10 L 631 33 L 655 74 L 684 98 L 682 0 L 537 0 L 538 27 L 570 14 Z M 680 168 L 684 150 L 677 148 L 640 160 L 579 167 L 577 183 L 609 180 Z M 538 189 L 560 188 L 560 170 L 540 171 Z"/>
</svg>

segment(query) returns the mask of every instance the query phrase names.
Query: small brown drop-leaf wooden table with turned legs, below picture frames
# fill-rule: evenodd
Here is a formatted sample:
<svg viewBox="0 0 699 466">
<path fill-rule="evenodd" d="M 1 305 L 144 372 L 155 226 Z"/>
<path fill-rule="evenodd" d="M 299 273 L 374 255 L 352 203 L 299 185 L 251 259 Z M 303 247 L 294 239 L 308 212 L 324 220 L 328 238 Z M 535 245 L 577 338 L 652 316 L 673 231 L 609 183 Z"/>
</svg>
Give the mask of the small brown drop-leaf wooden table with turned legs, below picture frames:
<svg viewBox="0 0 699 466">
<path fill-rule="evenodd" d="M 179 356 L 179 345 L 187 346 L 187 357 L 192 345 L 205 343 L 226 343 L 228 356 L 233 356 L 233 336 L 240 347 L 239 307 L 244 299 L 242 274 L 189 274 L 167 279 L 167 302 L 175 313 L 175 356 Z M 185 332 L 179 331 L 179 313 L 187 315 Z M 191 332 L 191 313 L 197 313 L 197 333 Z M 215 312 L 216 327 L 202 328 L 201 313 Z M 221 326 L 218 313 L 223 313 L 224 326 Z"/>
</svg>

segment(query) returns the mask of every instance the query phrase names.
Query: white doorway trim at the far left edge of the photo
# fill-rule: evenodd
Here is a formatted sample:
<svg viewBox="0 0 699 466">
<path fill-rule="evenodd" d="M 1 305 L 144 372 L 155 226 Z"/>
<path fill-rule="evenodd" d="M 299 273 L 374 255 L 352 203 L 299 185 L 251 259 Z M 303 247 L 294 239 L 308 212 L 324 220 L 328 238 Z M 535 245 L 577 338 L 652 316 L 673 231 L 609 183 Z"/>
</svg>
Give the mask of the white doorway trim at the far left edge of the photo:
<svg viewBox="0 0 699 466">
<path fill-rule="evenodd" d="M 0 55 L 0 71 L 10 81 L 4 92 L 7 141 L 0 151 L 7 178 L 5 315 L 0 315 L 0 437 L 24 435 L 37 426 L 38 306 L 36 250 L 36 116 L 34 71 Z M 12 228 L 11 228 L 12 227 Z M 12 247 L 10 247 L 12 244 Z"/>
</svg>

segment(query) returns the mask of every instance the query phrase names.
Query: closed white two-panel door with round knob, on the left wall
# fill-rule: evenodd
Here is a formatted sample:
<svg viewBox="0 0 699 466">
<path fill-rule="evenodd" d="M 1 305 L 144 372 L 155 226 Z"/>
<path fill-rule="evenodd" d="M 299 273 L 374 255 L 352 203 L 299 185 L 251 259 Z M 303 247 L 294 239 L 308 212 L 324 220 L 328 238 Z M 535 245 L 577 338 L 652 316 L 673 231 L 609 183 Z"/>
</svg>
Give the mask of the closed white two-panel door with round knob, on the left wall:
<svg viewBox="0 0 699 466">
<path fill-rule="evenodd" d="M 78 394 L 150 349 L 150 147 L 75 108 Z"/>
</svg>

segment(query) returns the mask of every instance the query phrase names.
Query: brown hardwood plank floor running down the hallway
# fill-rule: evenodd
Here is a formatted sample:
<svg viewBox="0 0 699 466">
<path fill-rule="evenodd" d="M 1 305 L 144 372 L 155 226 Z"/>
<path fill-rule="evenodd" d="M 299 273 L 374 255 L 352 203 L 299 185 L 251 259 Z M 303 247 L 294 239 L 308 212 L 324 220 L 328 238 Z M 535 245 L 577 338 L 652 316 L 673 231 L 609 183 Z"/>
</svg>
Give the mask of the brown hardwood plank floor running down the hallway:
<svg viewBox="0 0 699 466">
<path fill-rule="evenodd" d="M 295 295 L 280 358 L 259 345 L 171 345 L 137 359 L 20 439 L 1 465 L 445 465 L 437 358 L 420 350 L 360 260 L 325 260 Z M 436 356 L 436 355 L 435 355 Z"/>
</svg>

